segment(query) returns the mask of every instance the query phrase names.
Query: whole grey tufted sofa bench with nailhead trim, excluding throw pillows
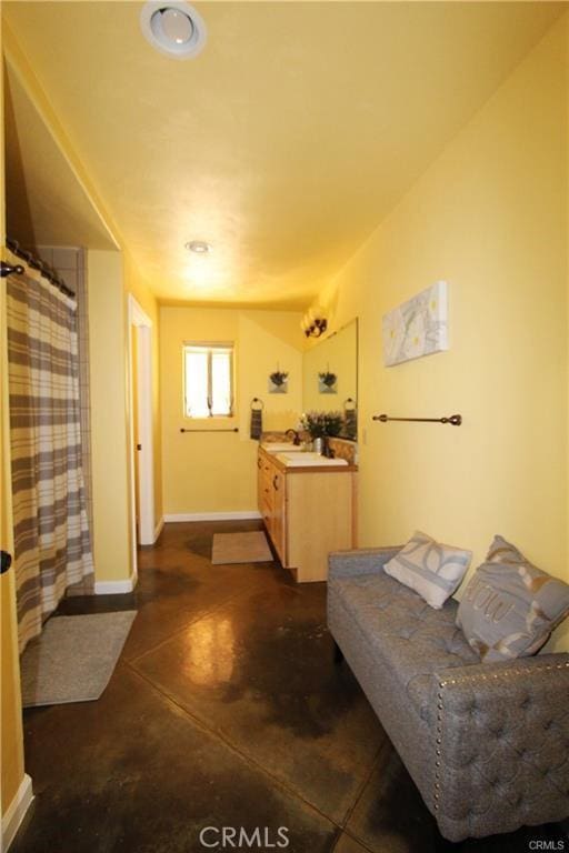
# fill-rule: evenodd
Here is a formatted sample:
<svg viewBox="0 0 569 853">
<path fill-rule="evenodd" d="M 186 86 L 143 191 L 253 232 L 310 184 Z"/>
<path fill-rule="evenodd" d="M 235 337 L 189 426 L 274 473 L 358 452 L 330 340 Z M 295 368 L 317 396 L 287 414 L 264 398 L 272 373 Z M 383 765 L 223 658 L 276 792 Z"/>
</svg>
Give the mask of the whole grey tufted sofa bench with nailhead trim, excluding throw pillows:
<svg viewBox="0 0 569 853">
<path fill-rule="evenodd" d="M 455 625 L 389 578 L 399 549 L 330 555 L 328 623 L 449 841 L 569 815 L 569 654 L 480 663 Z"/>
</svg>

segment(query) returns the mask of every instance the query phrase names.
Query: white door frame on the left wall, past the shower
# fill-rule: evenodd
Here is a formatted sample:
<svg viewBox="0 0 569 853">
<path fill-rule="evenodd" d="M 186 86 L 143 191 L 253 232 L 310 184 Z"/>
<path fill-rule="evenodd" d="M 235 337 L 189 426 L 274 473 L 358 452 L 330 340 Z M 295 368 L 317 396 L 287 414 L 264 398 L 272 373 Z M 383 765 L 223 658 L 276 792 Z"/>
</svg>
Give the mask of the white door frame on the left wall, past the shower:
<svg viewBox="0 0 569 853">
<path fill-rule="evenodd" d="M 154 446 L 152 428 L 152 321 L 134 297 L 128 295 L 128 350 L 130 402 L 130 493 L 132 506 L 132 566 L 137 572 L 137 544 L 152 545 L 154 538 Z M 133 363 L 132 332 L 138 331 L 137 364 Z M 136 368 L 136 369 L 134 369 Z M 138 432 L 141 450 L 136 449 L 134 381 L 137 382 Z M 134 454 L 138 454 L 139 529 L 137 536 L 137 484 Z"/>
</svg>

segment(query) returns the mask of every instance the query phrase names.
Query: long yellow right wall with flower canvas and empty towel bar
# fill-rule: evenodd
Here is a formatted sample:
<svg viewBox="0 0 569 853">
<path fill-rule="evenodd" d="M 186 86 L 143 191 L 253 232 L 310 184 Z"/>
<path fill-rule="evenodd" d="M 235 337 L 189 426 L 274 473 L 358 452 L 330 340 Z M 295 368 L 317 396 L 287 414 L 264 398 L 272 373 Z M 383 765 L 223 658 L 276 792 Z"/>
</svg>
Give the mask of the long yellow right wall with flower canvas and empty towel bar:
<svg viewBox="0 0 569 853">
<path fill-rule="evenodd" d="M 501 533 L 569 580 L 567 56 L 566 17 L 320 297 L 336 328 L 360 319 L 362 545 L 419 529 L 476 566 Z M 450 351 L 383 368 L 382 314 L 439 279 Z"/>
</svg>

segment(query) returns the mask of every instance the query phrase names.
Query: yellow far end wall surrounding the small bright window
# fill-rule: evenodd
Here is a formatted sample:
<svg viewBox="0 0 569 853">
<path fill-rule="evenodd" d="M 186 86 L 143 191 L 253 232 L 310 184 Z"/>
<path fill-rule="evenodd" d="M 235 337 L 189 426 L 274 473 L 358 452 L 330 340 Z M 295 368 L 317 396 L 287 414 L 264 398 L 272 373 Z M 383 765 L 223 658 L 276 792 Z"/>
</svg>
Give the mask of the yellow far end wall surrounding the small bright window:
<svg viewBox="0 0 569 853">
<path fill-rule="evenodd" d="M 286 311 L 160 309 L 160 372 L 164 513 L 250 512 L 257 509 L 257 442 L 249 438 L 250 402 L 264 401 L 263 429 L 296 426 L 302 405 L 300 315 Z M 233 419 L 183 418 L 184 341 L 234 341 Z M 269 373 L 289 372 L 289 393 L 269 394 Z M 180 428 L 239 426 L 238 434 L 180 433 Z"/>
</svg>

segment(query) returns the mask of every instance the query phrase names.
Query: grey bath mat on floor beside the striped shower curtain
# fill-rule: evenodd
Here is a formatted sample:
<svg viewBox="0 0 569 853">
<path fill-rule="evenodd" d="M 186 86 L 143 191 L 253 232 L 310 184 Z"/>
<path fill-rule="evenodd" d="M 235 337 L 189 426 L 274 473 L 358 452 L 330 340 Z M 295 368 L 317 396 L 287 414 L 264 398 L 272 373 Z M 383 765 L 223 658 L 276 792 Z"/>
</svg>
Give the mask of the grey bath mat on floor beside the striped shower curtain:
<svg viewBox="0 0 569 853">
<path fill-rule="evenodd" d="M 136 615 L 136 610 L 126 610 L 48 620 L 22 655 L 23 706 L 99 699 Z"/>
</svg>

